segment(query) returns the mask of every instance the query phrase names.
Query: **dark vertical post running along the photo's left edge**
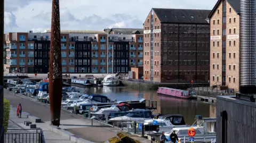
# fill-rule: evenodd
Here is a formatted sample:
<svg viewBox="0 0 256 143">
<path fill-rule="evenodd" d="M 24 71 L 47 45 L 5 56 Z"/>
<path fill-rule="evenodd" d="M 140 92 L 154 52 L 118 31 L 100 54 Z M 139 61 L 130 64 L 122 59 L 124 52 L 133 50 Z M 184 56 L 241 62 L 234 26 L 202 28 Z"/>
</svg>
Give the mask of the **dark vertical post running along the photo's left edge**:
<svg viewBox="0 0 256 143">
<path fill-rule="evenodd" d="M 0 142 L 4 142 L 4 0 L 0 2 Z"/>
</svg>

